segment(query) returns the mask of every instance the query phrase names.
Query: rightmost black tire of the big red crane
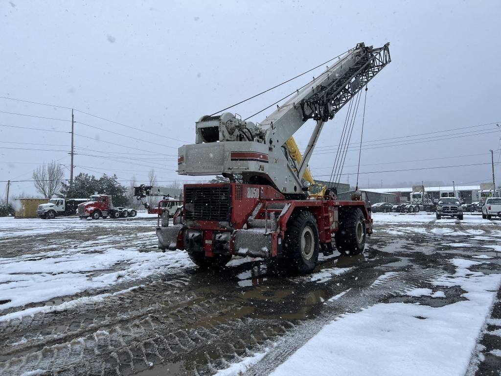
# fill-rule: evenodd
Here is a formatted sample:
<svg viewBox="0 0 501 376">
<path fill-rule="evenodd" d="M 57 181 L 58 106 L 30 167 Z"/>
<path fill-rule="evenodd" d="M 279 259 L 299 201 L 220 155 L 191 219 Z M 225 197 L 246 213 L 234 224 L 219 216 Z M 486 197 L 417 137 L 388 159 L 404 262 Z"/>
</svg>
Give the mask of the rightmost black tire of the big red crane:
<svg viewBox="0 0 501 376">
<path fill-rule="evenodd" d="M 365 218 L 360 209 L 350 209 L 340 214 L 339 228 L 334 239 L 342 255 L 359 255 L 364 251 L 366 239 Z"/>
</svg>

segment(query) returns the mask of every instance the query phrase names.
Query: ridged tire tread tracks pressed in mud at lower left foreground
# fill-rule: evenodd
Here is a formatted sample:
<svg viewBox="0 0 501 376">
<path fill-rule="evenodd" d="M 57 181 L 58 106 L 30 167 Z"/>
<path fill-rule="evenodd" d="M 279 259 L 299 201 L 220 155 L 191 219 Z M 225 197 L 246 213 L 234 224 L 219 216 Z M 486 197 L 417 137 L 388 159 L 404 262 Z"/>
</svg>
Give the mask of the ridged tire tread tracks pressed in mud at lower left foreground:
<svg viewBox="0 0 501 376">
<path fill-rule="evenodd" d="M 3 325 L 0 332 L 7 342 L 1 348 L 0 369 L 3 374 L 33 369 L 60 375 L 132 374 L 166 359 L 180 361 L 189 350 L 193 362 L 186 369 L 210 373 L 287 331 L 245 318 L 248 310 L 239 299 L 228 303 L 204 285 L 191 291 L 189 279 L 152 283 L 113 297 L 104 306 L 86 305 Z M 111 314 L 113 310 L 118 312 Z M 207 344 L 214 338 L 218 344 L 207 355 Z"/>
</svg>

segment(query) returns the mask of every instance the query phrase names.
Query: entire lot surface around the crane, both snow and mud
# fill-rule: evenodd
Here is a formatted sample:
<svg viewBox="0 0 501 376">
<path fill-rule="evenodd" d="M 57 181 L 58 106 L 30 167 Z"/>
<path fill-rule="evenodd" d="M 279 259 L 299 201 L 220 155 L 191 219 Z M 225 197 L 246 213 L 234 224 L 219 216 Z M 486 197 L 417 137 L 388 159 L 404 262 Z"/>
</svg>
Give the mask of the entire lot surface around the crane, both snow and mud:
<svg viewBox="0 0 501 376">
<path fill-rule="evenodd" d="M 199 270 L 156 250 L 154 217 L 1 218 L 0 373 L 498 371 L 501 221 L 373 217 L 364 255 L 302 277 Z"/>
</svg>

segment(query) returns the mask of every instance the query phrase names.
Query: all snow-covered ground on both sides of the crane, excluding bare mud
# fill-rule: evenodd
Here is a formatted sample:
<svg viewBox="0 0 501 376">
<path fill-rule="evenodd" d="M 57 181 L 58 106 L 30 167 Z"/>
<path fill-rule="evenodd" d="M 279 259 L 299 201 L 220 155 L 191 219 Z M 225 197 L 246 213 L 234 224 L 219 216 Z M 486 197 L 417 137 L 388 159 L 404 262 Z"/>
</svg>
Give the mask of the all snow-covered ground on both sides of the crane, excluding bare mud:
<svg viewBox="0 0 501 376">
<path fill-rule="evenodd" d="M 142 288 L 148 280 L 166 274 L 178 276 L 194 268 L 186 252 L 158 252 L 156 216 L 141 216 L 146 219 L 0 218 L 0 325 L 12 326 L 18 319 L 39 313 L 68 313 L 75 307 L 105 305 L 107 299 L 121 299 L 122 294 Z M 402 299 L 408 301 L 378 300 L 362 310 L 345 309 L 335 320 L 321 322 L 317 329 L 320 331 L 291 352 L 273 375 L 462 375 L 466 371 L 501 283 L 501 275 L 494 269 L 483 273 L 488 265 L 498 263 L 501 221 L 468 215 L 463 221 L 436 220 L 428 214 L 378 213 L 373 218 L 375 233 L 369 241 L 370 257 L 360 255 L 347 261 L 335 255 L 322 256 L 325 264 L 315 273 L 290 277 L 291 280 L 298 286 L 309 283 L 319 291 L 328 285 L 339 286 L 330 294 L 319 295 L 319 304 L 329 310 L 343 307 L 346 300 L 354 298 L 362 299 L 363 305 L 369 304 L 365 303 L 366 292 L 347 280 L 357 280 L 355 273 L 361 272 L 369 259 L 378 260 L 381 253 L 405 259 L 402 264 L 412 263 L 417 253 L 447 253 L 442 260 L 446 267 L 436 266 L 438 274 L 444 270 L 455 273 L 433 276 L 431 284 L 415 282 L 416 286 L 402 292 Z M 419 245 L 423 240 L 426 246 Z M 32 242 L 29 250 L 18 247 L 27 242 Z M 6 252 L 6 248 L 14 251 Z M 237 258 L 228 266 L 238 270 L 235 288 L 251 293 L 269 282 L 265 274 L 266 278 L 259 277 L 261 280 L 255 283 L 252 277 L 256 272 L 245 267 L 247 262 L 259 263 L 259 259 Z M 376 290 L 411 271 L 412 265 L 409 268 L 386 269 L 382 274 L 372 268 L 361 273 L 371 276 L 365 277 L 370 279 L 367 289 Z M 460 291 L 457 297 L 451 292 L 454 288 Z M 329 320 L 337 315 L 329 316 Z M 214 372 L 221 376 L 241 374 L 266 361 L 268 354 L 279 348 L 280 344 L 266 343 L 259 351 L 241 356 Z M 495 355 L 495 351 L 501 350 L 492 351 Z"/>
</svg>

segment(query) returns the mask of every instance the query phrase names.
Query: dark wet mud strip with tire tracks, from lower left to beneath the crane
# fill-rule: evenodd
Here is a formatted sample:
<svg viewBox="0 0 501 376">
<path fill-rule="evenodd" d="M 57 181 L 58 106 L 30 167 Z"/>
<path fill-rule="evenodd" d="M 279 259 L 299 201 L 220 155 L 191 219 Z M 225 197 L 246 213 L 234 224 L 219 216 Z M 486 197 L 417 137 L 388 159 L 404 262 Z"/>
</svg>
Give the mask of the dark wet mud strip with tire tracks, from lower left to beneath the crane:
<svg viewBox="0 0 501 376">
<path fill-rule="evenodd" d="M 389 256 L 384 263 L 398 260 Z M 320 330 L 315 325 L 325 323 L 326 308 L 333 309 L 322 303 L 347 286 L 364 294 L 357 298 L 348 294 L 353 301 L 338 307 L 339 311 L 334 309 L 337 314 L 359 310 L 437 273 L 397 273 L 381 286 L 369 288 L 383 273 L 377 268 L 381 258 L 332 258 L 318 269 L 344 267 L 339 265 L 343 262 L 356 268 L 320 284 L 309 276 L 270 276 L 262 262 L 243 263 L 220 274 L 195 270 L 152 281 L 105 303 L 3 323 L 0 372 L 17 375 L 40 369 L 45 371 L 41 374 L 58 376 L 153 375 L 168 369 L 169 374 L 213 374 L 243 357 L 273 348 L 281 338 L 313 335 Z M 249 271 L 249 285 L 239 287 L 238 276 Z M 283 351 L 274 358 L 283 361 L 295 347 L 288 348 L 272 350 Z"/>
</svg>

